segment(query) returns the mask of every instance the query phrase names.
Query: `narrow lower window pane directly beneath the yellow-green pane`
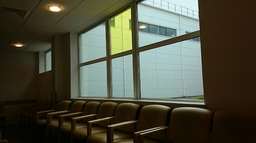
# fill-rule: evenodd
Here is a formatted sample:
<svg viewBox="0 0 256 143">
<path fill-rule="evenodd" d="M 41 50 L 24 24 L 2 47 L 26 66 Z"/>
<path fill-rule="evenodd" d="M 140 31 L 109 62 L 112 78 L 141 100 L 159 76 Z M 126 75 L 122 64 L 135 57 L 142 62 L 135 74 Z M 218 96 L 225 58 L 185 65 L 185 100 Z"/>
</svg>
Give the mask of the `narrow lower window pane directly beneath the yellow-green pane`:
<svg viewBox="0 0 256 143">
<path fill-rule="evenodd" d="M 112 97 L 134 98 L 132 55 L 113 58 L 112 65 Z"/>
</svg>

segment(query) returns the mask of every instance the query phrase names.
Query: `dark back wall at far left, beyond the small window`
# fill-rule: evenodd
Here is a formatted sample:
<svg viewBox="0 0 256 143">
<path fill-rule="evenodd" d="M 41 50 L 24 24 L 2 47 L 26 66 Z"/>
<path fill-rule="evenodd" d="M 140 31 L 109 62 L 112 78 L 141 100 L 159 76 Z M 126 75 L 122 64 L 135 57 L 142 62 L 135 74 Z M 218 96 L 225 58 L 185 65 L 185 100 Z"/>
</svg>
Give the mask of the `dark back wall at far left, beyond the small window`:
<svg viewBox="0 0 256 143">
<path fill-rule="evenodd" d="M 20 119 L 19 104 L 38 98 L 36 53 L 0 50 L 0 101 L 4 101 L 7 123 Z"/>
</svg>

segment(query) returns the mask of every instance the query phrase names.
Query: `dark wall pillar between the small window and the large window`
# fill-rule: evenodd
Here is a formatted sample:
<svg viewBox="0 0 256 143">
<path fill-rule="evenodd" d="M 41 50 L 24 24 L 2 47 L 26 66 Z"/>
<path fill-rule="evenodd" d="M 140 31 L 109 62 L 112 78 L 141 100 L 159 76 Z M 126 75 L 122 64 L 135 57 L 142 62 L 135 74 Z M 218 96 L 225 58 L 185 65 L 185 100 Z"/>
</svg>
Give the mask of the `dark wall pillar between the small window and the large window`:
<svg viewBox="0 0 256 143">
<path fill-rule="evenodd" d="M 70 99 L 70 35 L 52 39 L 52 92 L 57 100 Z"/>
</svg>

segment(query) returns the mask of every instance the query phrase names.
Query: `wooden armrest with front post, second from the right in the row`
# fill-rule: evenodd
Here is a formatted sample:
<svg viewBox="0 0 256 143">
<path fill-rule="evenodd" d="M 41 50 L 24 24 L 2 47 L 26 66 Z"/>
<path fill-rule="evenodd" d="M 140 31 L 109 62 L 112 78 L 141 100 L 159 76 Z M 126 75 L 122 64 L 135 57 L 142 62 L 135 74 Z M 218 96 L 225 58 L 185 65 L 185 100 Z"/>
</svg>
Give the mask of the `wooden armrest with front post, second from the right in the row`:
<svg viewBox="0 0 256 143">
<path fill-rule="evenodd" d="M 120 128 L 124 126 L 129 126 L 129 125 L 135 125 L 137 124 L 137 120 L 132 120 L 132 121 L 126 121 L 122 123 L 117 123 L 113 125 L 109 125 L 107 128 L 107 143 L 112 143 L 114 141 L 114 129 L 115 128 Z"/>
</svg>

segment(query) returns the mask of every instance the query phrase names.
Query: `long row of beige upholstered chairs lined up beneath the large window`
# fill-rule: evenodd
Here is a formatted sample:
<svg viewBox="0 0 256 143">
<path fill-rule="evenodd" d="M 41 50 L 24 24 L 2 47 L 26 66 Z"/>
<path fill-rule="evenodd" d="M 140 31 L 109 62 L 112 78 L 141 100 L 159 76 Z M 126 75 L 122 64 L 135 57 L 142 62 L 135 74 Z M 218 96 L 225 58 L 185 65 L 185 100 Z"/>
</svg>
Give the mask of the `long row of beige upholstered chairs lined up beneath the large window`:
<svg viewBox="0 0 256 143">
<path fill-rule="evenodd" d="M 46 143 L 53 135 L 58 143 L 256 142 L 256 112 L 250 110 L 76 101 L 70 110 L 47 113 L 47 119 L 37 115 L 36 126 L 46 126 Z"/>
</svg>

